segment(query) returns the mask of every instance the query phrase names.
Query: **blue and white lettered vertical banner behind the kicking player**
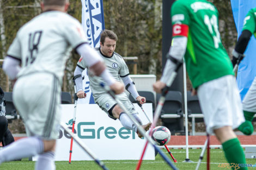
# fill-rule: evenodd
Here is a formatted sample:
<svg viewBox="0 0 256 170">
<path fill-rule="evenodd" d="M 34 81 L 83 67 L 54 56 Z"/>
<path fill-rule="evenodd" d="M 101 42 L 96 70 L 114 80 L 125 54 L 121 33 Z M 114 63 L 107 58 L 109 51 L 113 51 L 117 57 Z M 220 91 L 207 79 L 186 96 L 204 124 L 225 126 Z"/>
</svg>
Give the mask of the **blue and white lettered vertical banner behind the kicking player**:
<svg viewBox="0 0 256 170">
<path fill-rule="evenodd" d="M 82 1 L 82 26 L 92 48 L 100 47 L 100 33 L 105 29 L 103 0 L 81 0 Z M 87 97 L 78 99 L 77 103 L 93 104 L 94 99 L 90 90 L 90 81 L 87 69 L 83 71 L 83 89 Z"/>
</svg>

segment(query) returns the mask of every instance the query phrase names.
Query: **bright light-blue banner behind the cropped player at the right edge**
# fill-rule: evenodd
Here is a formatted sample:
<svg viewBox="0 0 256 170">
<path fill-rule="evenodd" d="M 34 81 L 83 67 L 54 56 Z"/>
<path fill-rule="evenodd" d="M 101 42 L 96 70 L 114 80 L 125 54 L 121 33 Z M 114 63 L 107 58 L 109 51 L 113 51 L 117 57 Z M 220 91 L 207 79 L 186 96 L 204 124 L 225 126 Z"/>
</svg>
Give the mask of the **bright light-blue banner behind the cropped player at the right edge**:
<svg viewBox="0 0 256 170">
<path fill-rule="evenodd" d="M 242 32 L 243 20 L 248 11 L 256 7 L 256 1 L 248 0 L 231 0 L 233 16 L 237 29 L 237 35 Z M 237 70 L 237 85 L 240 91 L 241 99 L 243 99 L 252 84 L 256 75 L 256 40 L 254 36 L 251 37 L 247 49 L 245 51 L 245 58 L 241 61 Z"/>
</svg>

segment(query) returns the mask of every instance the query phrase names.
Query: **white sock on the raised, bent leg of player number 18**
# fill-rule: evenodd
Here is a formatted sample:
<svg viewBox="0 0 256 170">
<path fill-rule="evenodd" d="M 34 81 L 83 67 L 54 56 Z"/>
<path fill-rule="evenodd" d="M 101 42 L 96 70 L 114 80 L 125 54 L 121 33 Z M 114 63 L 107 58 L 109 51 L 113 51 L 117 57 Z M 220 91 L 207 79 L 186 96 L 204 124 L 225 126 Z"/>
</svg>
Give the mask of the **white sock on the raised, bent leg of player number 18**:
<svg viewBox="0 0 256 170">
<path fill-rule="evenodd" d="M 0 151 L 0 163 L 28 158 L 44 151 L 44 142 L 38 137 L 17 140 Z"/>
</svg>

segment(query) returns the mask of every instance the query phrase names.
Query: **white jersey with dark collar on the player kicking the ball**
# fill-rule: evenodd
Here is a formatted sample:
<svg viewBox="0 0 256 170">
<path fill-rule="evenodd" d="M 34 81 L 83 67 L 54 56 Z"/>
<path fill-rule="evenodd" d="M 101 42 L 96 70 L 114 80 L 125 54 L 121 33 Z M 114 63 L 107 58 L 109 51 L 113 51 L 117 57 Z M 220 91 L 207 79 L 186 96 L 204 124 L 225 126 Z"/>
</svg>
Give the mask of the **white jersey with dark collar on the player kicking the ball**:
<svg viewBox="0 0 256 170">
<path fill-rule="evenodd" d="M 109 73 L 115 80 L 122 82 L 121 77 L 129 75 L 129 69 L 121 55 L 114 52 L 113 55 L 109 57 L 102 54 L 100 48 L 94 49 L 98 54 L 100 54 Z M 87 67 L 87 64 L 84 62 L 84 60 L 82 60 L 82 58 L 80 58 L 80 60 L 77 62 L 77 66 L 84 70 Z M 106 93 L 106 91 L 100 86 L 100 83 L 104 83 L 105 81 L 103 81 L 101 77 L 92 76 L 90 74 L 88 74 L 88 77 L 90 80 L 90 87 L 93 92 L 93 97 L 96 102 L 97 98 L 99 98 L 101 94 Z"/>
</svg>

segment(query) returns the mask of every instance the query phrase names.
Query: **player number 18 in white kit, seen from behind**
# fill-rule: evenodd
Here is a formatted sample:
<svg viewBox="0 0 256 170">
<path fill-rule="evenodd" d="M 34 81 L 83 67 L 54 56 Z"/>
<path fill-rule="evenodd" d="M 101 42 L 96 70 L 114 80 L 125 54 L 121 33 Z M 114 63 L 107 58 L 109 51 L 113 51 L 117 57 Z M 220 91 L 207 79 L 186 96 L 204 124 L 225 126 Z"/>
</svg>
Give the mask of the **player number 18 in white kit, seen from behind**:
<svg viewBox="0 0 256 170">
<path fill-rule="evenodd" d="M 115 93 L 124 91 L 124 85 L 111 77 L 88 45 L 81 24 L 65 14 L 68 7 L 68 0 L 43 0 L 42 14 L 20 28 L 8 50 L 3 69 L 11 79 L 17 78 L 13 100 L 29 137 L 3 148 L 0 163 L 39 154 L 35 169 L 55 169 L 60 91 L 72 48 Z"/>
</svg>

